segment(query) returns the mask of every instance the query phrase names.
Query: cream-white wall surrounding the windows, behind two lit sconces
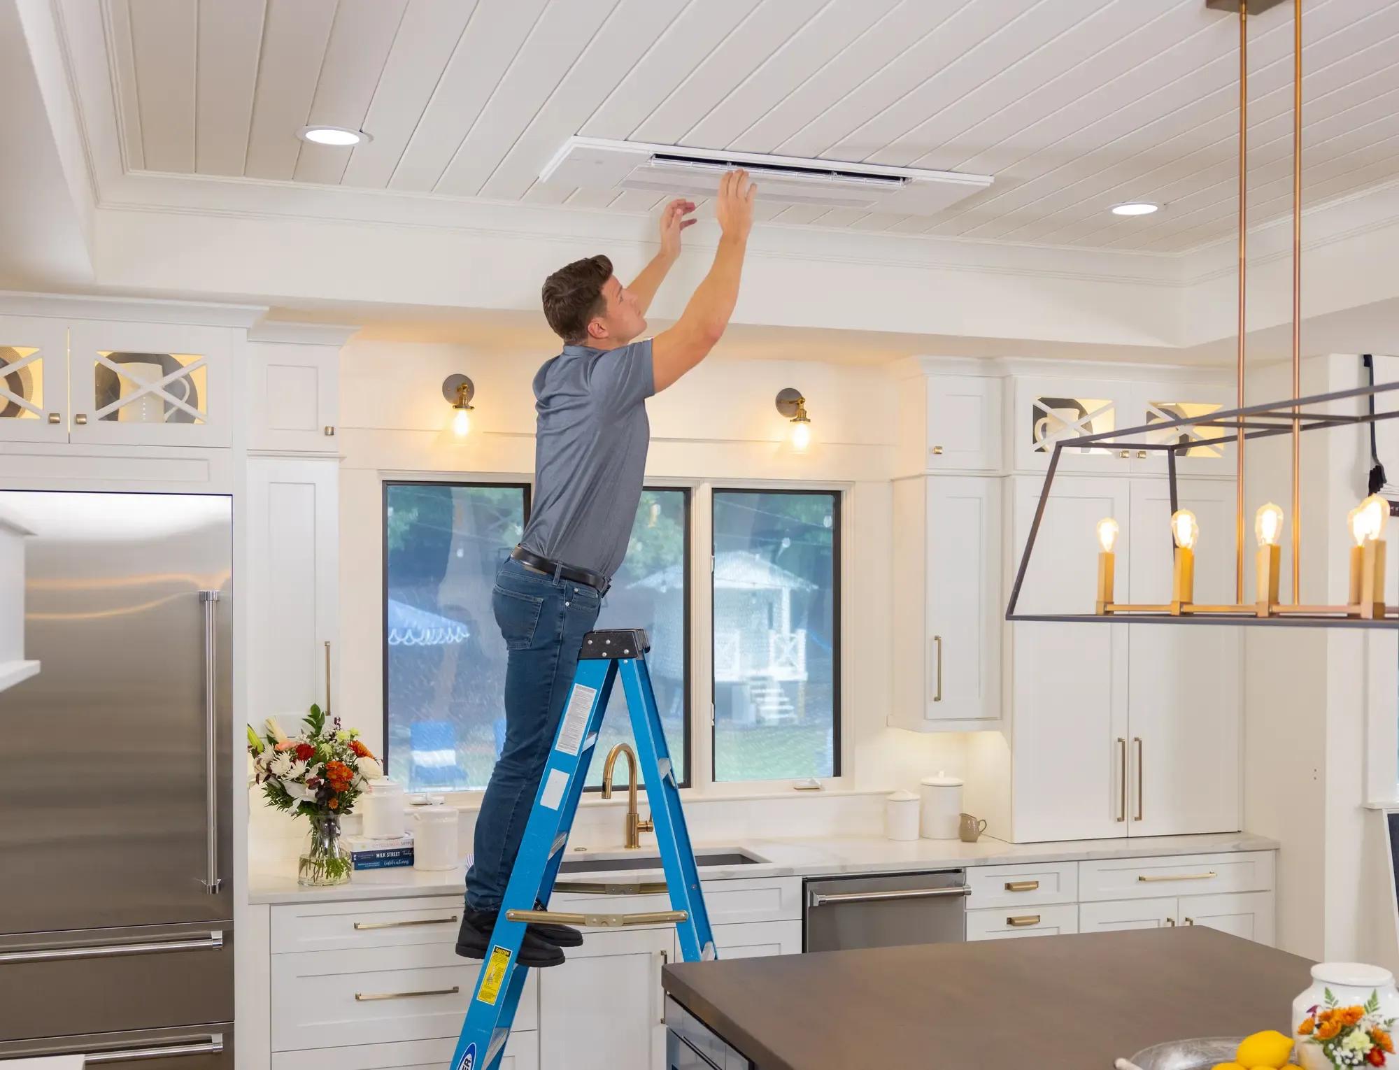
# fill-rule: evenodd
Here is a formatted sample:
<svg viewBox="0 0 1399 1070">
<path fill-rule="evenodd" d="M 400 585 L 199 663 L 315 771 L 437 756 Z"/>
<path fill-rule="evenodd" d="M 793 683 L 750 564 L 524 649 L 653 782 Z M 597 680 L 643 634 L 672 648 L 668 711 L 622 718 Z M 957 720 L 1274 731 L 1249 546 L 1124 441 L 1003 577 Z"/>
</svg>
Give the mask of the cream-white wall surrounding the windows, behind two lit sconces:
<svg viewBox="0 0 1399 1070">
<path fill-rule="evenodd" d="M 386 477 L 450 473 L 527 478 L 533 471 L 530 380 L 551 352 L 487 352 L 456 344 L 357 341 L 341 355 L 340 713 L 371 746 L 383 725 L 382 491 Z M 443 434 L 442 379 L 476 383 L 464 445 Z M 783 443 L 774 408 L 799 387 L 811 415 L 804 455 Z M 844 490 L 842 743 L 844 779 L 855 789 L 915 786 L 939 768 L 963 769 L 964 737 L 888 729 L 890 483 L 895 383 L 880 368 L 807 361 L 726 361 L 722 348 L 648 403 L 648 478 L 762 480 Z M 708 705 L 695 674 L 691 701 Z M 786 785 L 775 785 L 785 789 Z"/>
</svg>

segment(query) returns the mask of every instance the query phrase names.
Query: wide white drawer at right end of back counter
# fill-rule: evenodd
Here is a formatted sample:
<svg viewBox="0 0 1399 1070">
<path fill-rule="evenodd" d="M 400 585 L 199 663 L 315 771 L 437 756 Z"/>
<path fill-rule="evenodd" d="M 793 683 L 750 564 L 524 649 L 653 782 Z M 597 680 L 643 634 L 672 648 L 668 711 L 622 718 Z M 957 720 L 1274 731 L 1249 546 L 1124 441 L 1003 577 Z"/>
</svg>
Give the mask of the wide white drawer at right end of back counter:
<svg viewBox="0 0 1399 1070">
<path fill-rule="evenodd" d="M 1270 891 L 1272 887 L 1273 852 L 1270 850 L 1150 859 L 1098 859 L 1079 863 L 1079 899 L 1081 902 Z"/>
</svg>

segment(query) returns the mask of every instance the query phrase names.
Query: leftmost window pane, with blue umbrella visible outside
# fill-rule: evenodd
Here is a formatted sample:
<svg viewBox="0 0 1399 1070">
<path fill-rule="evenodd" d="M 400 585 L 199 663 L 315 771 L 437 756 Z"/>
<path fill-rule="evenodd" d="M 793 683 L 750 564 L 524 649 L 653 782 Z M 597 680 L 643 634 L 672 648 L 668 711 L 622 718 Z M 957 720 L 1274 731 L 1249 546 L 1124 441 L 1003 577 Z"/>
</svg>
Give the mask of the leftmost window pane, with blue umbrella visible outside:
<svg viewBox="0 0 1399 1070">
<path fill-rule="evenodd" d="M 505 740 L 495 569 L 529 488 L 383 485 L 383 712 L 389 775 L 409 790 L 485 787 Z"/>
</svg>

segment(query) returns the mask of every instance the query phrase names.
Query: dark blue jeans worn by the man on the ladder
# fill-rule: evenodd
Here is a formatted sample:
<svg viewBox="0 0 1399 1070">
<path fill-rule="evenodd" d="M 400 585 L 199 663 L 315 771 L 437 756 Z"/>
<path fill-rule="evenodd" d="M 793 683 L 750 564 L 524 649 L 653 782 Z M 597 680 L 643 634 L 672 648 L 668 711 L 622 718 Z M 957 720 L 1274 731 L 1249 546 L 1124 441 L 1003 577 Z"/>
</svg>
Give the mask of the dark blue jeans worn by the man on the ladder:
<svg viewBox="0 0 1399 1070">
<path fill-rule="evenodd" d="M 578 652 L 597 621 L 602 596 L 585 583 L 554 579 L 506 558 L 495 573 L 491 607 L 509 652 L 505 747 L 476 818 L 476 855 L 466 874 L 466 905 L 474 911 L 501 906 Z"/>
</svg>

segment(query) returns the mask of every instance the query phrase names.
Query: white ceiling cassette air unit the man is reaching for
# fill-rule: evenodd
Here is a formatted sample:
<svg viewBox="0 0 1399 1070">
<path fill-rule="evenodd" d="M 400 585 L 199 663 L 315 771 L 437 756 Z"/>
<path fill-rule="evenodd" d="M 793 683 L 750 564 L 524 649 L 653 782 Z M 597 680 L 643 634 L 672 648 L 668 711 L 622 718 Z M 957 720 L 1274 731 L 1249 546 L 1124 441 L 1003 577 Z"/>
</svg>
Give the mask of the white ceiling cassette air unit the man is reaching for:
<svg viewBox="0 0 1399 1070">
<path fill-rule="evenodd" d="M 746 168 L 765 201 L 905 215 L 935 215 L 992 182 L 989 175 L 960 175 L 956 171 L 769 157 L 722 148 L 679 148 L 596 137 L 568 138 L 539 178 L 540 182 L 579 189 L 614 189 L 618 193 L 638 189 L 698 199 L 712 197 L 719 189 L 719 176 L 730 168 Z"/>
</svg>

